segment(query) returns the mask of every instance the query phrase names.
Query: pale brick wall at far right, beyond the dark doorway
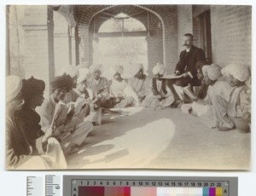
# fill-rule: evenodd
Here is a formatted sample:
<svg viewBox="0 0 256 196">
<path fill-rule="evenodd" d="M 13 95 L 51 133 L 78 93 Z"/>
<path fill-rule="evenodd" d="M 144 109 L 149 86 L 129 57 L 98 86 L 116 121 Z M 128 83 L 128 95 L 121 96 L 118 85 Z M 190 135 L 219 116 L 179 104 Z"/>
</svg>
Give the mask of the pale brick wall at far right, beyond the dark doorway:
<svg viewBox="0 0 256 196">
<path fill-rule="evenodd" d="M 232 62 L 251 65 L 252 7 L 211 6 L 212 60 L 221 66 Z"/>
</svg>

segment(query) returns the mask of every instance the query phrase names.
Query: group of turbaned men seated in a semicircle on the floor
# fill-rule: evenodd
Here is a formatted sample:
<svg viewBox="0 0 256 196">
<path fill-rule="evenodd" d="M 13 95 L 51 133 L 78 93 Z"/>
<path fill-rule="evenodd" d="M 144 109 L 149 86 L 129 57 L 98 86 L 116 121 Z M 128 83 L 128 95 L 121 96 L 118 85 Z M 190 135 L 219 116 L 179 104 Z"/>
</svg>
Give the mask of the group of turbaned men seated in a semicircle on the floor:
<svg viewBox="0 0 256 196">
<path fill-rule="evenodd" d="M 102 124 L 102 111 L 109 108 L 181 107 L 194 116 L 212 112 L 212 128 L 218 130 L 235 129 L 236 118 L 249 118 L 247 66 L 230 64 L 221 68 L 218 64 L 196 61 L 195 71 L 184 72 L 182 64 L 181 60 L 177 63 L 177 78 L 165 77 L 166 66 L 159 63 L 153 67 L 153 78 L 144 74 L 142 64 L 133 64 L 127 82 L 122 78 L 123 66 L 109 68 L 109 81 L 102 77 L 100 64 L 89 69 L 67 66 L 50 82 L 52 93 L 45 100 L 43 80 L 7 77 L 6 167 L 67 168 L 67 155 L 79 150 L 93 126 Z M 200 86 L 195 98 L 189 98 L 183 91 L 186 86 L 190 89 L 190 84 Z M 82 101 L 84 105 L 76 115 L 55 122 L 61 116 L 58 109 L 73 108 Z"/>
</svg>

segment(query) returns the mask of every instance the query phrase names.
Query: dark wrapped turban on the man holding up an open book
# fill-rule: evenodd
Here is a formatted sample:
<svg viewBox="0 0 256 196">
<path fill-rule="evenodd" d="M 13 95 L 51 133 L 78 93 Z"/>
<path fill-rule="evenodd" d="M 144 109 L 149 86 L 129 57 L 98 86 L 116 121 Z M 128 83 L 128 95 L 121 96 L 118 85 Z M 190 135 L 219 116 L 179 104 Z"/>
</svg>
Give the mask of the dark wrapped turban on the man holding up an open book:
<svg viewBox="0 0 256 196">
<path fill-rule="evenodd" d="M 73 86 L 73 79 L 71 78 L 70 75 L 67 73 L 64 73 L 62 76 L 55 77 L 51 82 L 50 82 L 52 90 L 55 89 L 67 89 L 67 91 L 70 91 Z"/>
</svg>

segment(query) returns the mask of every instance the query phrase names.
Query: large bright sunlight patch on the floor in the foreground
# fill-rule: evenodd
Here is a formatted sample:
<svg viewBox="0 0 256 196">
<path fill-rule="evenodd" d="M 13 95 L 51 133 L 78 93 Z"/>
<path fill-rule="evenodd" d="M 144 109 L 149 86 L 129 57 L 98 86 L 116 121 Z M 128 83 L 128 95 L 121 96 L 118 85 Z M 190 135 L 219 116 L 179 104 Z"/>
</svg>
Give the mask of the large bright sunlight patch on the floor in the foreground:
<svg viewBox="0 0 256 196">
<path fill-rule="evenodd" d="M 119 168 L 120 165 L 122 168 L 143 167 L 168 147 L 174 133 L 175 124 L 171 119 L 161 118 L 148 123 L 93 146 L 114 145 L 109 151 L 85 156 L 83 160 L 89 164 L 84 165 L 84 168 Z"/>
</svg>

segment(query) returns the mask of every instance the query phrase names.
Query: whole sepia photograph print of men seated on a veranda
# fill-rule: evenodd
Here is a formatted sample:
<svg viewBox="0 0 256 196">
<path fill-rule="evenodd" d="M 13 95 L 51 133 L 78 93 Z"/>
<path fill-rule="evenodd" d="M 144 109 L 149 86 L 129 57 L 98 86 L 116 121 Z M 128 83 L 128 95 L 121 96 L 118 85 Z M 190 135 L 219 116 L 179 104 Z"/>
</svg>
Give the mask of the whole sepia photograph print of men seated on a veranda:
<svg viewBox="0 0 256 196">
<path fill-rule="evenodd" d="M 251 5 L 5 9 L 6 170 L 251 170 Z"/>
</svg>

